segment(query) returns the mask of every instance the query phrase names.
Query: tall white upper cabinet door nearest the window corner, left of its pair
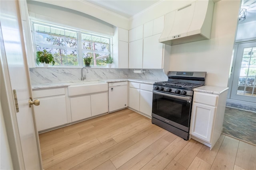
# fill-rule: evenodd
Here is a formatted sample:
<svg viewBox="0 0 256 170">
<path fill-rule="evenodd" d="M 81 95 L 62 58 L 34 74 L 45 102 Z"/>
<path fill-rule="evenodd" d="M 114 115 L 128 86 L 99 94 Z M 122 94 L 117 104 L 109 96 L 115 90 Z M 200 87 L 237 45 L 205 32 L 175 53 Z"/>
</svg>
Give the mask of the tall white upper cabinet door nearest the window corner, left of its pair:
<svg viewBox="0 0 256 170">
<path fill-rule="evenodd" d="M 142 68 L 143 39 L 129 43 L 129 68 Z"/>
</svg>

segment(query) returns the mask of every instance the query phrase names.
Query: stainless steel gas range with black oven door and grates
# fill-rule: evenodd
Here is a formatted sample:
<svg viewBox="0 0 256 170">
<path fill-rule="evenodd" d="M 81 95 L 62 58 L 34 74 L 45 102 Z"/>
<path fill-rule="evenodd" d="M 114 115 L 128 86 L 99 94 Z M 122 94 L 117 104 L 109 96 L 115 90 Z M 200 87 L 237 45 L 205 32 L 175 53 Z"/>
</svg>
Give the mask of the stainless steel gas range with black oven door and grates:
<svg viewBox="0 0 256 170">
<path fill-rule="evenodd" d="M 206 72 L 168 72 L 168 81 L 153 86 L 152 123 L 189 139 L 193 89 L 204 86 Z"/>
</svg>

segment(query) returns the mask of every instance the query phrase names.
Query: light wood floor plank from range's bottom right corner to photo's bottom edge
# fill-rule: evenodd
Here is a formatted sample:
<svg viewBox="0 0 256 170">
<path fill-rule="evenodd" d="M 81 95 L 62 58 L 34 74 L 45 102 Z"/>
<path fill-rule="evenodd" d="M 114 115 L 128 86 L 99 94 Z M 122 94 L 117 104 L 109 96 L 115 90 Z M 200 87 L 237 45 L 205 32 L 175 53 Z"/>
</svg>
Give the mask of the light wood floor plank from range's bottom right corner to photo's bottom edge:
<svg viewBox="0 0 256 170">
<path fill-rule="evenodd" d="M 163 170 L 187 144 L 188 141 L 177 137 L 165 149 L 150 160 L 142 170 Z"/>
</svg>

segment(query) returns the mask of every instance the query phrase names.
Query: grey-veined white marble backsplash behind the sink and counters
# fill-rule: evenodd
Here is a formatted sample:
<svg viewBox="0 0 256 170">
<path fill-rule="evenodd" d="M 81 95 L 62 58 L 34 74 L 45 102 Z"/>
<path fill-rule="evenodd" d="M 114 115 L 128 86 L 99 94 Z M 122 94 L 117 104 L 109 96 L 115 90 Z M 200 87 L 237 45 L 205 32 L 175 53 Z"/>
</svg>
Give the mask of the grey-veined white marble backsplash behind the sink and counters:
<svg viewBox="0 0 256 170">
<path fill-rule="evenodd" d="M 166 81 L 168 77 L 163 69 L 143 69 L 144 72 L 134 73 L 128 68 L 87 68 L 83 70 L 86 80 L 134 78 L 141 80 Z M 81 80 L 81 68 L 30 68 L 31 84 L 57 83 Z"/>
</svg>

